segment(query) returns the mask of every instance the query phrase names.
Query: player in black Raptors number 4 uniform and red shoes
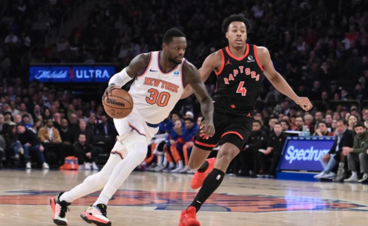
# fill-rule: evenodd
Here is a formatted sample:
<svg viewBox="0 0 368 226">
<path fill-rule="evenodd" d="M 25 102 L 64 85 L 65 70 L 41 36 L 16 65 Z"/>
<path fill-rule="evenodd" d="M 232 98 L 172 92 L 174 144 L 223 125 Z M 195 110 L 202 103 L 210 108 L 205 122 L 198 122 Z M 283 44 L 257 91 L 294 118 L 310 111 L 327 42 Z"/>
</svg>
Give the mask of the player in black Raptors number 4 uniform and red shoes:
<svg viewBox="0 0 368 226">
<path fill-rule="evenodd" d="M 196 212 L 219 187 L 230 161 L 243 149 L 251 133 L 254 105 L 265 77 L 305 111 L 312 108 L 308 98 L 298 97 L 276 72 L 267 48 L 245 43 L 249 28 L 250 21 L 243 14 L 226 18 L 222 29 L 229 46 L 209 55 L 199 69 L 204 81 L 212 71 L 217 75 L 213 98 L 215 135 L 208 137 L 199 129 L 195 139 L 189 167 L 198 170 L 192 178 L 191 187 L 202 187 L 192 204 L 181 213 L 179 226 L 200 225 Z M 191 87 L 187 86 L 182 98 L 191 94 Z M 207 159 L 209 151 L 217 144 L 221 145 L 217 158 Z"/>
</svg>

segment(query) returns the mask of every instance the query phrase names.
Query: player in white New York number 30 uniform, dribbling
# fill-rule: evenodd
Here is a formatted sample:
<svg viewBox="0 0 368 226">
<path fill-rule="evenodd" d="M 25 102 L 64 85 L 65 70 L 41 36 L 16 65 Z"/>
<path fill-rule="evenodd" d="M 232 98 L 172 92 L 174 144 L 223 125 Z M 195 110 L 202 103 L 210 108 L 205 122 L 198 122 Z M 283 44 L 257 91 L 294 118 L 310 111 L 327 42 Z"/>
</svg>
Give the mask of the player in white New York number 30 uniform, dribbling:
<svg viewBox="0 0 368 226">
<path fill-rule="evenodd" d="M 196 67 L 183 58 L 186 47 L 183 32 L 170 29 L 163 36 L 162 51 L 136 56 L 129 66 L 110 79 L 103 101 L 112 89 L 134 79 L 129 91 L 134 101 L 133 110 L 126 118 L 114 119 L 120 136 L 102 170 L 87 177 L 82 184 L 50 199 L 54 223 L 67 225 L 66 212 L 71 202 L 103 188 L 96 202 L 81 217 L 87 223 L 98 226 L 111 225 L 106 216 L 109 199 L 145 159 L 148 143 L 158 132 L 159 123 L 180 100 L 185 84 L 191 85 L 201 103 L 206 118 L 202 124 L 204 133 L 208 136 L 215 133 L 212 99 Z"/>
</svg>

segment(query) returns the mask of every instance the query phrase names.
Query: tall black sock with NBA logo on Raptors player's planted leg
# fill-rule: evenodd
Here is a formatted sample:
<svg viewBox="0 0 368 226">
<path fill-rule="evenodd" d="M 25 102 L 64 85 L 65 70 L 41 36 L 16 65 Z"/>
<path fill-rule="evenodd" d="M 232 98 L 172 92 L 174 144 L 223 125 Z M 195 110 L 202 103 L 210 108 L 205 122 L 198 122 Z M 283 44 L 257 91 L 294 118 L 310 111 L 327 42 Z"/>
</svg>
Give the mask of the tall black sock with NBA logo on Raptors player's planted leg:
<svg viewBox="0 0 368 226">
<path fill-rule="evenodd" d="M 203 181 L 201 189 L 199 189 L 198 194 L 195 196 L 190 206 L 194 206 L 198 212 L 202 204 L 220 186 L 224 176 L 225 173 L 223 171 L 214 168 Z"/>
</svg>

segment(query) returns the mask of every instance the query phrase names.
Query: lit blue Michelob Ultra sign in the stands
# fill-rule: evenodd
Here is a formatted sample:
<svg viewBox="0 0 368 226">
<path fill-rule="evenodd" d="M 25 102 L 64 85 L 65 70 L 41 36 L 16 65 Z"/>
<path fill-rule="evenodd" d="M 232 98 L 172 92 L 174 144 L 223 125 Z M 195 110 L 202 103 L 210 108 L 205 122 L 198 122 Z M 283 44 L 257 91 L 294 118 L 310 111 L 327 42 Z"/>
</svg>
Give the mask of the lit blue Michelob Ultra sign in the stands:
<svg viewBox="0 0 368 226">
<path fill-rule="evenodd" d="M 31 65 L 29 81 L 52 83 L 107 82 L 115 74 L 112 65 Z"/>
</svg>

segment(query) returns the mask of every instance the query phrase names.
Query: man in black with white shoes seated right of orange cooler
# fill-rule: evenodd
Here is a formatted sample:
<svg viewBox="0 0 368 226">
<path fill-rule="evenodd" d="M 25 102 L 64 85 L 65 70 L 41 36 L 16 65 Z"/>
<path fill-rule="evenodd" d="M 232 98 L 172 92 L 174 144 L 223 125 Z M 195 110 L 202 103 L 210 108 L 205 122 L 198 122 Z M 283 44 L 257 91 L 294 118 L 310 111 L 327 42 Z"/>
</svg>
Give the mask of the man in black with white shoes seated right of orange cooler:
<svg viewBox="0 0 368 226">
<path fill-rule="evenodd" d="M 86 141 L 84 133 L 79 134 L 78 141 L 73 145 L 74 156 L 78 158 L 79 169 L 98 170 L 95 163 L 96 152 L 92 146 Z"/>
</svg>

